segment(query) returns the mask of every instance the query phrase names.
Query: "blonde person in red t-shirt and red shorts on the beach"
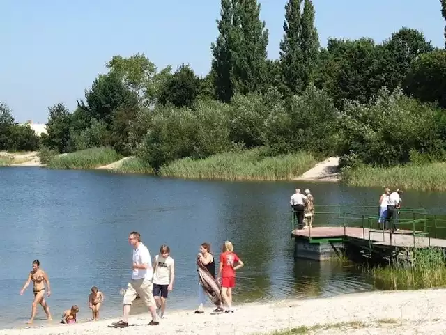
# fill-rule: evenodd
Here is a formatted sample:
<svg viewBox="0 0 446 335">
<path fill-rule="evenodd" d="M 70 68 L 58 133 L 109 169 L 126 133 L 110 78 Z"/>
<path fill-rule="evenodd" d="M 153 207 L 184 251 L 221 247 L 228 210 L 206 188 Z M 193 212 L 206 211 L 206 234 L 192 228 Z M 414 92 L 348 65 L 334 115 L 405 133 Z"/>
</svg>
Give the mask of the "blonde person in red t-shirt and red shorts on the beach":
<svg viewBox="0 0 446 335">
<path fill-rule="evenodd" d="M 233 249 L 231 242 L 224 242 L 220 255 L 220 270 L 218 271 L 218 279 L 222 283 L 222 297 L 228 307 L 226 313 L 233 312 L 232 289 L 236 286 L 236 270 L 244 265 Z"/>
</svg>

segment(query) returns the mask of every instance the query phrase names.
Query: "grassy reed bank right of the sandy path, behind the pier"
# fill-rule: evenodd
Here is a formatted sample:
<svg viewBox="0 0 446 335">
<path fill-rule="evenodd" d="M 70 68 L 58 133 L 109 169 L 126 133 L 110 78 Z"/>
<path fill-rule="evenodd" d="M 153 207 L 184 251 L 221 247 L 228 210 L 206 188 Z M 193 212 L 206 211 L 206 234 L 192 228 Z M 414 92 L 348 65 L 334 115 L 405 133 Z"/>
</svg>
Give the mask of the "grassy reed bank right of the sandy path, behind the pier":
<svg viewBox="0 0 446 335">
<path fill-rule="evenodd" d="M 446 164 L 408 164 L 391 168 L 358 166 L 344 171 L 342 180 L 351 186 L 446 191 Z"/>
</svg>

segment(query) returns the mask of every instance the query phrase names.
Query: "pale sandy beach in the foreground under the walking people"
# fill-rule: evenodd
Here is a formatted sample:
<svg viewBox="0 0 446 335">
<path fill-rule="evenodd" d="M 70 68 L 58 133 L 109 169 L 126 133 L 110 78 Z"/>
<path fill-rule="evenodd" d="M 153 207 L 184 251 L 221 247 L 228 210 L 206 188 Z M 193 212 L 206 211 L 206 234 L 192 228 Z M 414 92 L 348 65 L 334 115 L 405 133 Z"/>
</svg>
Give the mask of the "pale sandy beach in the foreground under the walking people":
<svg viewBox="0 0 446 335">
<path fill-rule="evenodd" d="M 100 320 L 77 325 L 53 325 L 4 329 L 0 335 L 114 335 L 114 334 L 271 334 L 302 327 L 296 334 L 444 334 L 446 290 L 376 291 L 330 298 L 283 300 L 269 304 L 243 304 L 229 314 L 167 311 L 158 326 L 148 326 L 148 314 L 131 315 L 124 329 L 109 327 L 118 320 Z M 56 316 L 56 315 L 54 315 Z M 307 328 L 305 328 L 307 327 Z M 307 332 L 302 332 L 302 330 Z"/>
</svg>

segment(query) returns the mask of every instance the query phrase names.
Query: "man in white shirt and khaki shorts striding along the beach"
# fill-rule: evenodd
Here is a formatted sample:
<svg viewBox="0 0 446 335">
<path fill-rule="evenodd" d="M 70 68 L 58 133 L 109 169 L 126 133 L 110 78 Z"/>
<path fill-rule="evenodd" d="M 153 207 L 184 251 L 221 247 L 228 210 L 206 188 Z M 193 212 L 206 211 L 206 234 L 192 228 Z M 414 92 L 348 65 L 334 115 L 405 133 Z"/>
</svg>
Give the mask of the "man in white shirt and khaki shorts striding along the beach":
<svg viewBox="0 0 446 335">
<path fill-rule="evenodd" d="M 132 279 L 128 283 L 127 290 L 125 290 L 124 294 L 123 318 L 119 322 L 114 322 L 113 325 L 118 328 L 128 327 L 130 306 L 132 306 L 134 299 L 139 295 L 152 315 L 152 320 L 148 325 L 156 326 L 159 322 L 157 322 L 156 305 L 153 297 L 151 254 L 141 242 L 141 234 L 137 231 L 130 233 L 128 242 L 133 247 Z"/>
</svg>

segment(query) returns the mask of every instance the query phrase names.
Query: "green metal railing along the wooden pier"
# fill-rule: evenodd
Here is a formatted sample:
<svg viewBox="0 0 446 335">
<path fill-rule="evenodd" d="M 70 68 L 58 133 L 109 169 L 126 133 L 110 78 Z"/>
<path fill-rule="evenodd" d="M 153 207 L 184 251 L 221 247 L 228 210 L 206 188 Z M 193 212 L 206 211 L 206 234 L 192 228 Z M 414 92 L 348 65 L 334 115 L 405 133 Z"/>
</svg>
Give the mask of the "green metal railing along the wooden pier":
<svg viewBox="0 0 446 335">
<path fill-rule="evenodd" d="M 312 228 L 318 226 L 341 226 L 344 227 L 344 236 L 327 238 L 312 235 L 312 229 L 308 228 L 310 242 L 338 242 L 346 237 L 346 228 L 362 228 L 364 240 L 369 243 L 376 241 L 376 233 L 385 234 L 389 231 L 383 230 L 384 223 L 380 223 L 378 206 L 350 206 L 350 205 L 319 205 L 314 208 Z M 390 219 L 388 225 L 392 227 L 394 221 Z M 387 228 L 390 228 L 387 227 Z M 291 210 L 291 230 L 297 228 L 297 220 Z M 427 244 L 431 246 L 432 238 L 446 239 L 446 215 L 429 214 L 425 208 L 401 208 L 397 220 L 399 235 L 410 235 L 413 237 L 413 247 L 417 244 L 417 237 L 425 237 Z M 394 240 L 390 231 L 390 245 Z"/>
</svg>

